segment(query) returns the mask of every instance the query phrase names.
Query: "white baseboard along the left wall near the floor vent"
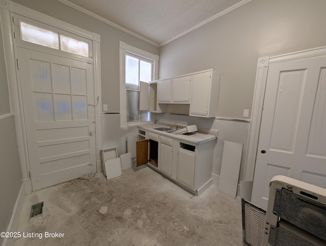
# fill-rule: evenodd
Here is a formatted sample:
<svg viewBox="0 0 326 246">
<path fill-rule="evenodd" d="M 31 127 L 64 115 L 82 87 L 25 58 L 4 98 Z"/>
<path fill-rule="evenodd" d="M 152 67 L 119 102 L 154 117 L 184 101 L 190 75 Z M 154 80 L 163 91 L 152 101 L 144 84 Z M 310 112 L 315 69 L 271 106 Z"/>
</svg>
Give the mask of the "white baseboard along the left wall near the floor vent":
<svg viewBox="0 0 326 246">
<path fill-rule="evenodd" d="M 22 210 L 22 206 L 24 204 L 24 198 L 25 198 L 25 186 L 24 184 L 21 184 L 17 200 L 14 206 L 14 209 L 12 211 L 12 215 L 10 218 L 10 222 L 7 228 L 7 232 L 16 232 L 18 228 L 18 222 Z M 7 238 L 5 237 L 2 246 L 12 246 L 14 244 L 13 238 Z"/>
</svg>

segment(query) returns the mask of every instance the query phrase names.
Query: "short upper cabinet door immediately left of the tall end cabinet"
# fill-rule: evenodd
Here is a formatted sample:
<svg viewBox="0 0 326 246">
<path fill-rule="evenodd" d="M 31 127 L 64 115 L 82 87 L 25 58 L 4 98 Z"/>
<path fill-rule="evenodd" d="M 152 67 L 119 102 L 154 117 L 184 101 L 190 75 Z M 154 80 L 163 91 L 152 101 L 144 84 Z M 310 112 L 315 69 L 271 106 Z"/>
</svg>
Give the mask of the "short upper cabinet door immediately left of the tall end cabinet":
<svg viewBox="0 0 326 246">
<path fill-rule="evenodd" d="M 189 103 L 190 102 L 190 88 L 191 76 L 185 76 L 172 81 L 172 102 Z"/>
</svg>

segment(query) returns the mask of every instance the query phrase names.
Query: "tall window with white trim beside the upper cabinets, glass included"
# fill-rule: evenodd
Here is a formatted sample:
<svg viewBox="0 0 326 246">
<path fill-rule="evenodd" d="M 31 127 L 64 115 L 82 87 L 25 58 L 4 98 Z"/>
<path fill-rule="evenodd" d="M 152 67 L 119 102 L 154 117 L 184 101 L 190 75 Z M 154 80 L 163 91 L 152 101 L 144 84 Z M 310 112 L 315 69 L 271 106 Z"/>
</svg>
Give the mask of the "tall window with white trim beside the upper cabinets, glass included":
<svg viewBox="0 0 326 246">
<path fill-rule="evenodd" d="M 120 42 L 121 126 L 152 122 L 148 82 L 157 79 L 157 63 L 158 56 Z"/>
</svg>

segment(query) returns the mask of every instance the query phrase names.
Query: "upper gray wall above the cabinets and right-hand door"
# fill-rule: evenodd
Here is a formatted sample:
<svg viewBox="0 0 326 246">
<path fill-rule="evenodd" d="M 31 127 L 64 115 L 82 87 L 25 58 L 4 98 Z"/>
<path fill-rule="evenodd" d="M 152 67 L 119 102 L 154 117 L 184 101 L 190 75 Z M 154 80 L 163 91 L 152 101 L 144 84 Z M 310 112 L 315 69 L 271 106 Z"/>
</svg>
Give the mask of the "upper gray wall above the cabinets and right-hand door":
<svg viewBox="0 0 326 246">
<path fill-rule="evenodd" d="M 161 46 L 159 78 L 218 70 L 217 116 L 243 118 L 252 107 L 257 59 L 326 45 L 325 11 L 324 0 L 253 0 Z"/>
</svg>

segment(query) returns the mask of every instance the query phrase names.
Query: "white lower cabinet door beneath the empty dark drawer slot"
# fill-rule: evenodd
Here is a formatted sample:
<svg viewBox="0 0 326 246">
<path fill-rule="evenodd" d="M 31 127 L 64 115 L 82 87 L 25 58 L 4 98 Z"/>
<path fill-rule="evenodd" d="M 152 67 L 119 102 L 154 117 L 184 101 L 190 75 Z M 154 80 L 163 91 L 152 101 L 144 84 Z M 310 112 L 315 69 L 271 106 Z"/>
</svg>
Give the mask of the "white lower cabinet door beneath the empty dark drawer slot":
<svg viewBox="0 0 326 246">
<path fill-rule="evenodd" d="M 195 152 L 179 147 L 177 161 L 177 181 L 189 188 L 194 188 Z"/>
</svg>

